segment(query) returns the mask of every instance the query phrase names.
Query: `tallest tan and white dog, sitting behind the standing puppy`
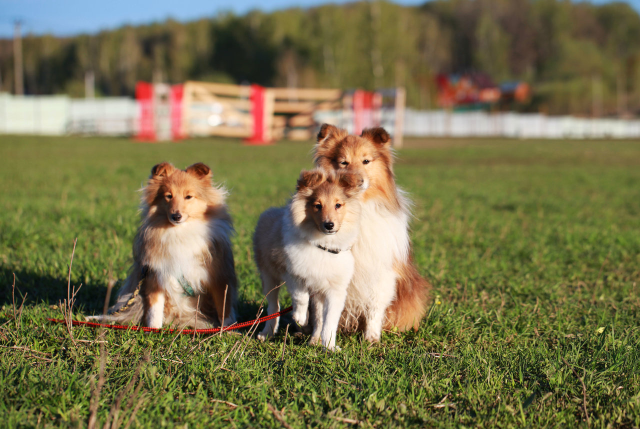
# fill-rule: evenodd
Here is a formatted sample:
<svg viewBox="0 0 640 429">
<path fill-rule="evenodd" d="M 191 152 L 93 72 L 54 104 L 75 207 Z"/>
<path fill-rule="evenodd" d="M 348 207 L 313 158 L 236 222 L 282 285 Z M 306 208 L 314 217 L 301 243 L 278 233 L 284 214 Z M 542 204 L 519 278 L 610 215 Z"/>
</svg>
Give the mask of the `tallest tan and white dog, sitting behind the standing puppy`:
<svg viewBox="0 0 640 429">
<path fill-rule="evenodd" d="M 355 270 L 340 327 L 364 330 L 370 342 L 380 341 L 383 328 L 417 329 L 431 284 L 412 263 L 411 203 L 396 186 L 389 134 L 376 127 L 357 136 L 323 124 L 314 163 L 327 172 L 353 172 L 364 179 L 360 234 L 352 250 Z"/>
</svg>

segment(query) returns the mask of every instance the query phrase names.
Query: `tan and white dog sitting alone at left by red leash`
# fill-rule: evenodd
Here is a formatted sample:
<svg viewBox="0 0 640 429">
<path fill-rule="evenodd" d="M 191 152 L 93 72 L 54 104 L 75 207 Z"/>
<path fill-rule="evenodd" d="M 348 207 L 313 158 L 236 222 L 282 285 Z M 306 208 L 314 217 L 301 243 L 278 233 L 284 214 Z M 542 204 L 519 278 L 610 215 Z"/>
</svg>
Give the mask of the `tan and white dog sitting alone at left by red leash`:
<svg viewBox="0 0 640 429">
<path fill-rule="evenodd" d="M 196 163 L 154 166 L 142 190 L 133 266 L 108 314 L 93 320 L 195 328 L 236 321 L 237 279 L 227 191 Z"/>
</svg>

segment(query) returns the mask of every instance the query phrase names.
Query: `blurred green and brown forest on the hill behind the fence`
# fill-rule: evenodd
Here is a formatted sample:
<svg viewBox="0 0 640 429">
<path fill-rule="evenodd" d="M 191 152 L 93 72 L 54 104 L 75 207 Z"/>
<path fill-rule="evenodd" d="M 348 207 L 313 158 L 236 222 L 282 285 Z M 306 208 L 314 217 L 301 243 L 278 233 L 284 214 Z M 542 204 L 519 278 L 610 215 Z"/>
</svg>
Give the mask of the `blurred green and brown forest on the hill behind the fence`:
<svg viewBox="0 0 640 429">
<path fill-rule="evenodd" d="M 136 81 L 188 79 L 268 86 L 386 88 L 436 108 L 438 73 L 526 81 L 518 108 L 550 114 L 640 113 L 640 16 L 626 3 L 567 0 L 385 1 L 193 22 L 124 26 L 92 35 L 24 35 L 28 94 L 134 94 Z M 12 40 L 0 40 L 0 88 L 13 92 Z"/>
</svg>

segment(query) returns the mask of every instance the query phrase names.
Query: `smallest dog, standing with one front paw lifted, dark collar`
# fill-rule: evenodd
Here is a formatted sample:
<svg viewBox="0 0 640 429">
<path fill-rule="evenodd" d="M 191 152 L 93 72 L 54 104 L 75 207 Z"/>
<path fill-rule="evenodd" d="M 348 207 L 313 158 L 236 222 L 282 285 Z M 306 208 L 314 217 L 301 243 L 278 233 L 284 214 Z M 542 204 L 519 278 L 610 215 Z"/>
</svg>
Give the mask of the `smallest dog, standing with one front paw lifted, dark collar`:
<svg viewBox="0 0 640 429">
<path fill-rule="evenodd" d="M 309 298 L 314 296 L 310 343 L 319 341 L 331 351 L 340 350 L 335 336 L 353 275 L 351 247 L 360 230 L 362 183 L 356 174 L 303 171 L 291 202 L 262 213 L 253 235 L 269 314 L 280 310 L 278 288 L 284 282 L 293 320 L 304 327 Z M 275 335 L 278 323 L 279 318 L 267 321 L 258 338 Z"/>
</svg>

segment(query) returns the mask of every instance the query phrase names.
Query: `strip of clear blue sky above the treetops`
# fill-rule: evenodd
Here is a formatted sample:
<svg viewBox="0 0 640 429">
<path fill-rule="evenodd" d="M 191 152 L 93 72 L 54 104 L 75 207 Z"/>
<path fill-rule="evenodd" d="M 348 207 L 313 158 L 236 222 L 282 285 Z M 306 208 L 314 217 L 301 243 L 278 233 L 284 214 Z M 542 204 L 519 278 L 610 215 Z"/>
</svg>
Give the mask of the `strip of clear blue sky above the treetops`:
<svg viewBox="0 0 640 429">
<path fill-rule="evenodd" d="M 595 0 L 592 3 L 607 3 Z M 324 3 L 347 3 L 346 0 L 0 0 L 0 37 L 13 35 L 13 22 L 22 22 L 22 34 L 52 33 L 74 35 L 97 33 L 101 29 L 123 24 L 147 24 L 169 17 L 180 21 L 211 17 L 220 12 L 243 15 L 252 9 L 265 12 Z M 424 0 L 396 0 L 401 4 L 422 4 Z M 640 10 L 640 0 L 629 0 Z"/>
</svg>

